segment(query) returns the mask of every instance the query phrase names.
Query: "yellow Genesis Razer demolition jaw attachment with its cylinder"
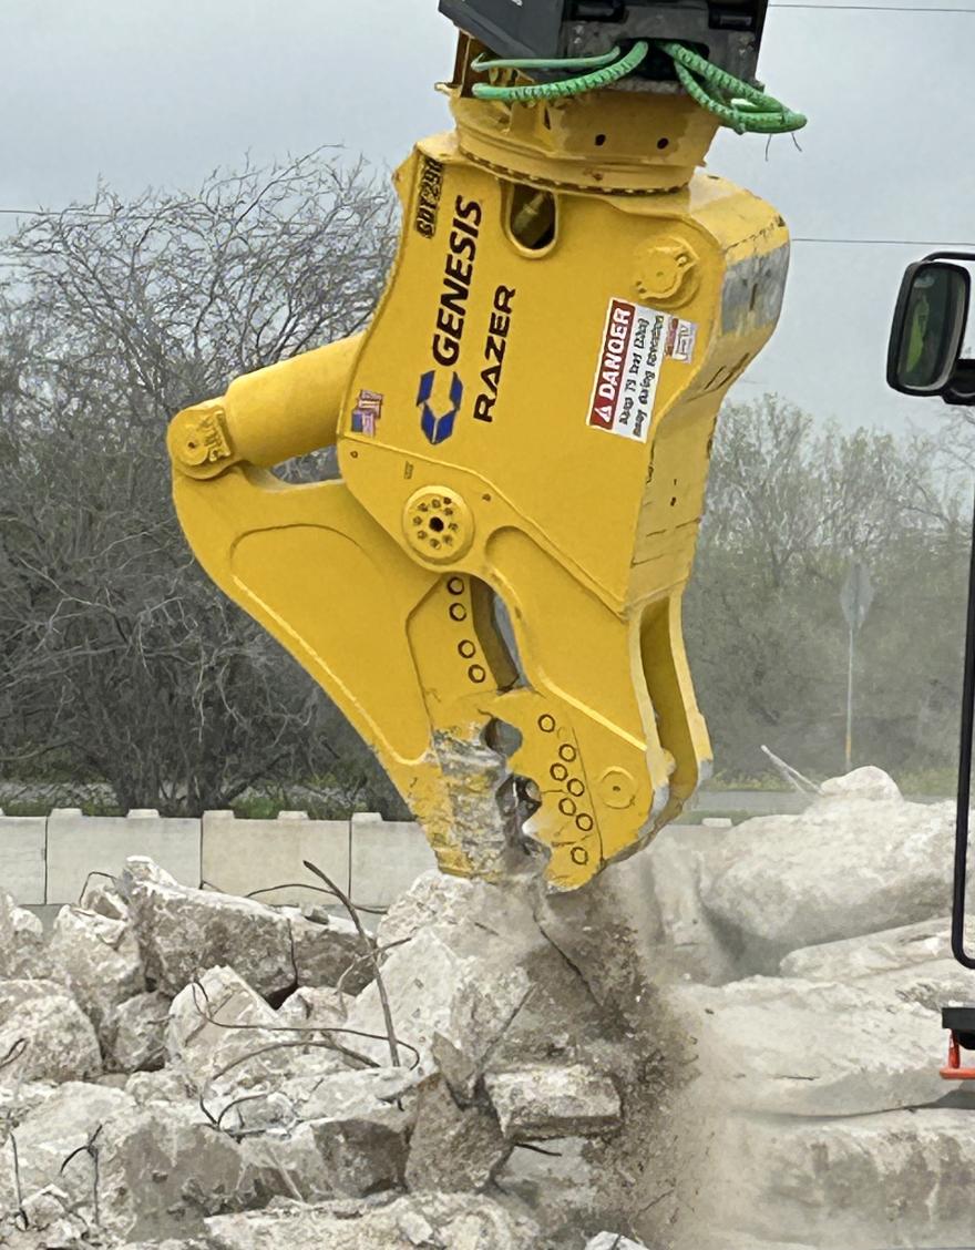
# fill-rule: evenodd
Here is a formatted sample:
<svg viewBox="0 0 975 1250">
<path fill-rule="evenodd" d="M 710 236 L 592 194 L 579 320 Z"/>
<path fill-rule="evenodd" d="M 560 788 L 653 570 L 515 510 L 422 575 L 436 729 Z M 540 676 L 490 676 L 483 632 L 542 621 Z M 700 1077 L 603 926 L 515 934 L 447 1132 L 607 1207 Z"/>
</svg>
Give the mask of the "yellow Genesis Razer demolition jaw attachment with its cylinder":
<svg viewBox="0 0 975 1250">
<path fill-rule="evenodd" d="M 718 409 L 774 329 L 788 235 L 694 172 L 715 122 L 686 98 L 486 105 L 474 51 L 458 131 L 396 175 L 371 326 L 175 418 L 175 500 L 201 564 L 376 750 L 444 870 L 496 878 L 528 842 L 572 889 L 710 765 L 681 594 Z M 268 471 L 335 441 L 341 481 Z M 499 791 L 509 772 L 520 800 Z"/>
</svg>

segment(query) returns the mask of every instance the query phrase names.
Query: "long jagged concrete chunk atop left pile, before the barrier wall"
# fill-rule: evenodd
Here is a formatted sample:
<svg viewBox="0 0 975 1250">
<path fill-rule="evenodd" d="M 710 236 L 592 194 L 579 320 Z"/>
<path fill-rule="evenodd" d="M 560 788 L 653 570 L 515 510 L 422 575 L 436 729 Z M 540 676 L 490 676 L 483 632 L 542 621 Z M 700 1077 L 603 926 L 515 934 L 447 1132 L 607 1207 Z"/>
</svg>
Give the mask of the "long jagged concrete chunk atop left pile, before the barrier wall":
<svg viewBox="0 0 975 1250">
<path fill-rule="evenodd" d="M 290 925 L 280 911 L 179 885 L 139 856 L 126 861 L 120 888 L 156 989 L 179 994 L 199 970 L 222 965 L 265 996 L 295 984 Z"/>
</svg>

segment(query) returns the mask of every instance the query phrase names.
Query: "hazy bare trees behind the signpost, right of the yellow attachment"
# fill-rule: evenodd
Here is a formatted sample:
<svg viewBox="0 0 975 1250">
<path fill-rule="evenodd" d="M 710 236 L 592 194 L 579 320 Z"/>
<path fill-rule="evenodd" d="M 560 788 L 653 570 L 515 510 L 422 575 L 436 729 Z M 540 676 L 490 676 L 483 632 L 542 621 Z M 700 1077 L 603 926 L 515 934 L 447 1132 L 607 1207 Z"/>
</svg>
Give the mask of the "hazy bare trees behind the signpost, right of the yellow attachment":
<svg viewBox="0 0 975 1250">
<path fill-rule="evenodd" d="M 685 621 L 719 770 L 842 768 L 851 559 L 876 596 L 858 645 L 860 761 L 950 765 L 966 522 L 930 439 L 850 432 L 782 399 L 726 405 Z"/>
</svg>

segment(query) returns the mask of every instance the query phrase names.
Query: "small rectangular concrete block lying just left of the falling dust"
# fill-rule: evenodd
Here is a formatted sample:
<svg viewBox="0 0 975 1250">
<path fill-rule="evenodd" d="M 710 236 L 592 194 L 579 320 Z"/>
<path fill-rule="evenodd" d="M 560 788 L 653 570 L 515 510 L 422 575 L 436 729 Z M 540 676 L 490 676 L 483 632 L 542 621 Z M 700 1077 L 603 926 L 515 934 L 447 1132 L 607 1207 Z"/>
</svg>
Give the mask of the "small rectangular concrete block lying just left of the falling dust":
<svg viewBox="0 0 975 1250">
<path fill-rule="evenodd" d="M 490 1072 L 484 1084 L 509 1141 L 601 1136 L 620 1124 L 616 1086 L 581 1064 L 526 1065 Z"/>
</svg>

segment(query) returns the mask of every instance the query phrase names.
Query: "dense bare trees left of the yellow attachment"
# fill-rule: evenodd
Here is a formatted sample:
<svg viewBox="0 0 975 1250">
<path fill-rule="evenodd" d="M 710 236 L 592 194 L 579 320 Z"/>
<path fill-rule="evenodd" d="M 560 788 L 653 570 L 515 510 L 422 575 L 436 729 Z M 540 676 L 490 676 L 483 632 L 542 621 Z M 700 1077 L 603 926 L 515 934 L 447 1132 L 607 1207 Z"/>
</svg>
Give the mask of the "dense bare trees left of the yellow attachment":
<svg viewBox="0 0 975 1250">
<path fill-rule="evenodd" d="M 194 195 L 39 215 L 4 245 L 0 756 L 59 758 L 121 806 L 198 812 L 341 761 L 334 706 L 196 569 L 165 430 L 245 372 L 350 334 L 392 248 L 392 196 L 334 154 Z M 391 794 L 391 791 L 389 791 Z"/>
</svg>

